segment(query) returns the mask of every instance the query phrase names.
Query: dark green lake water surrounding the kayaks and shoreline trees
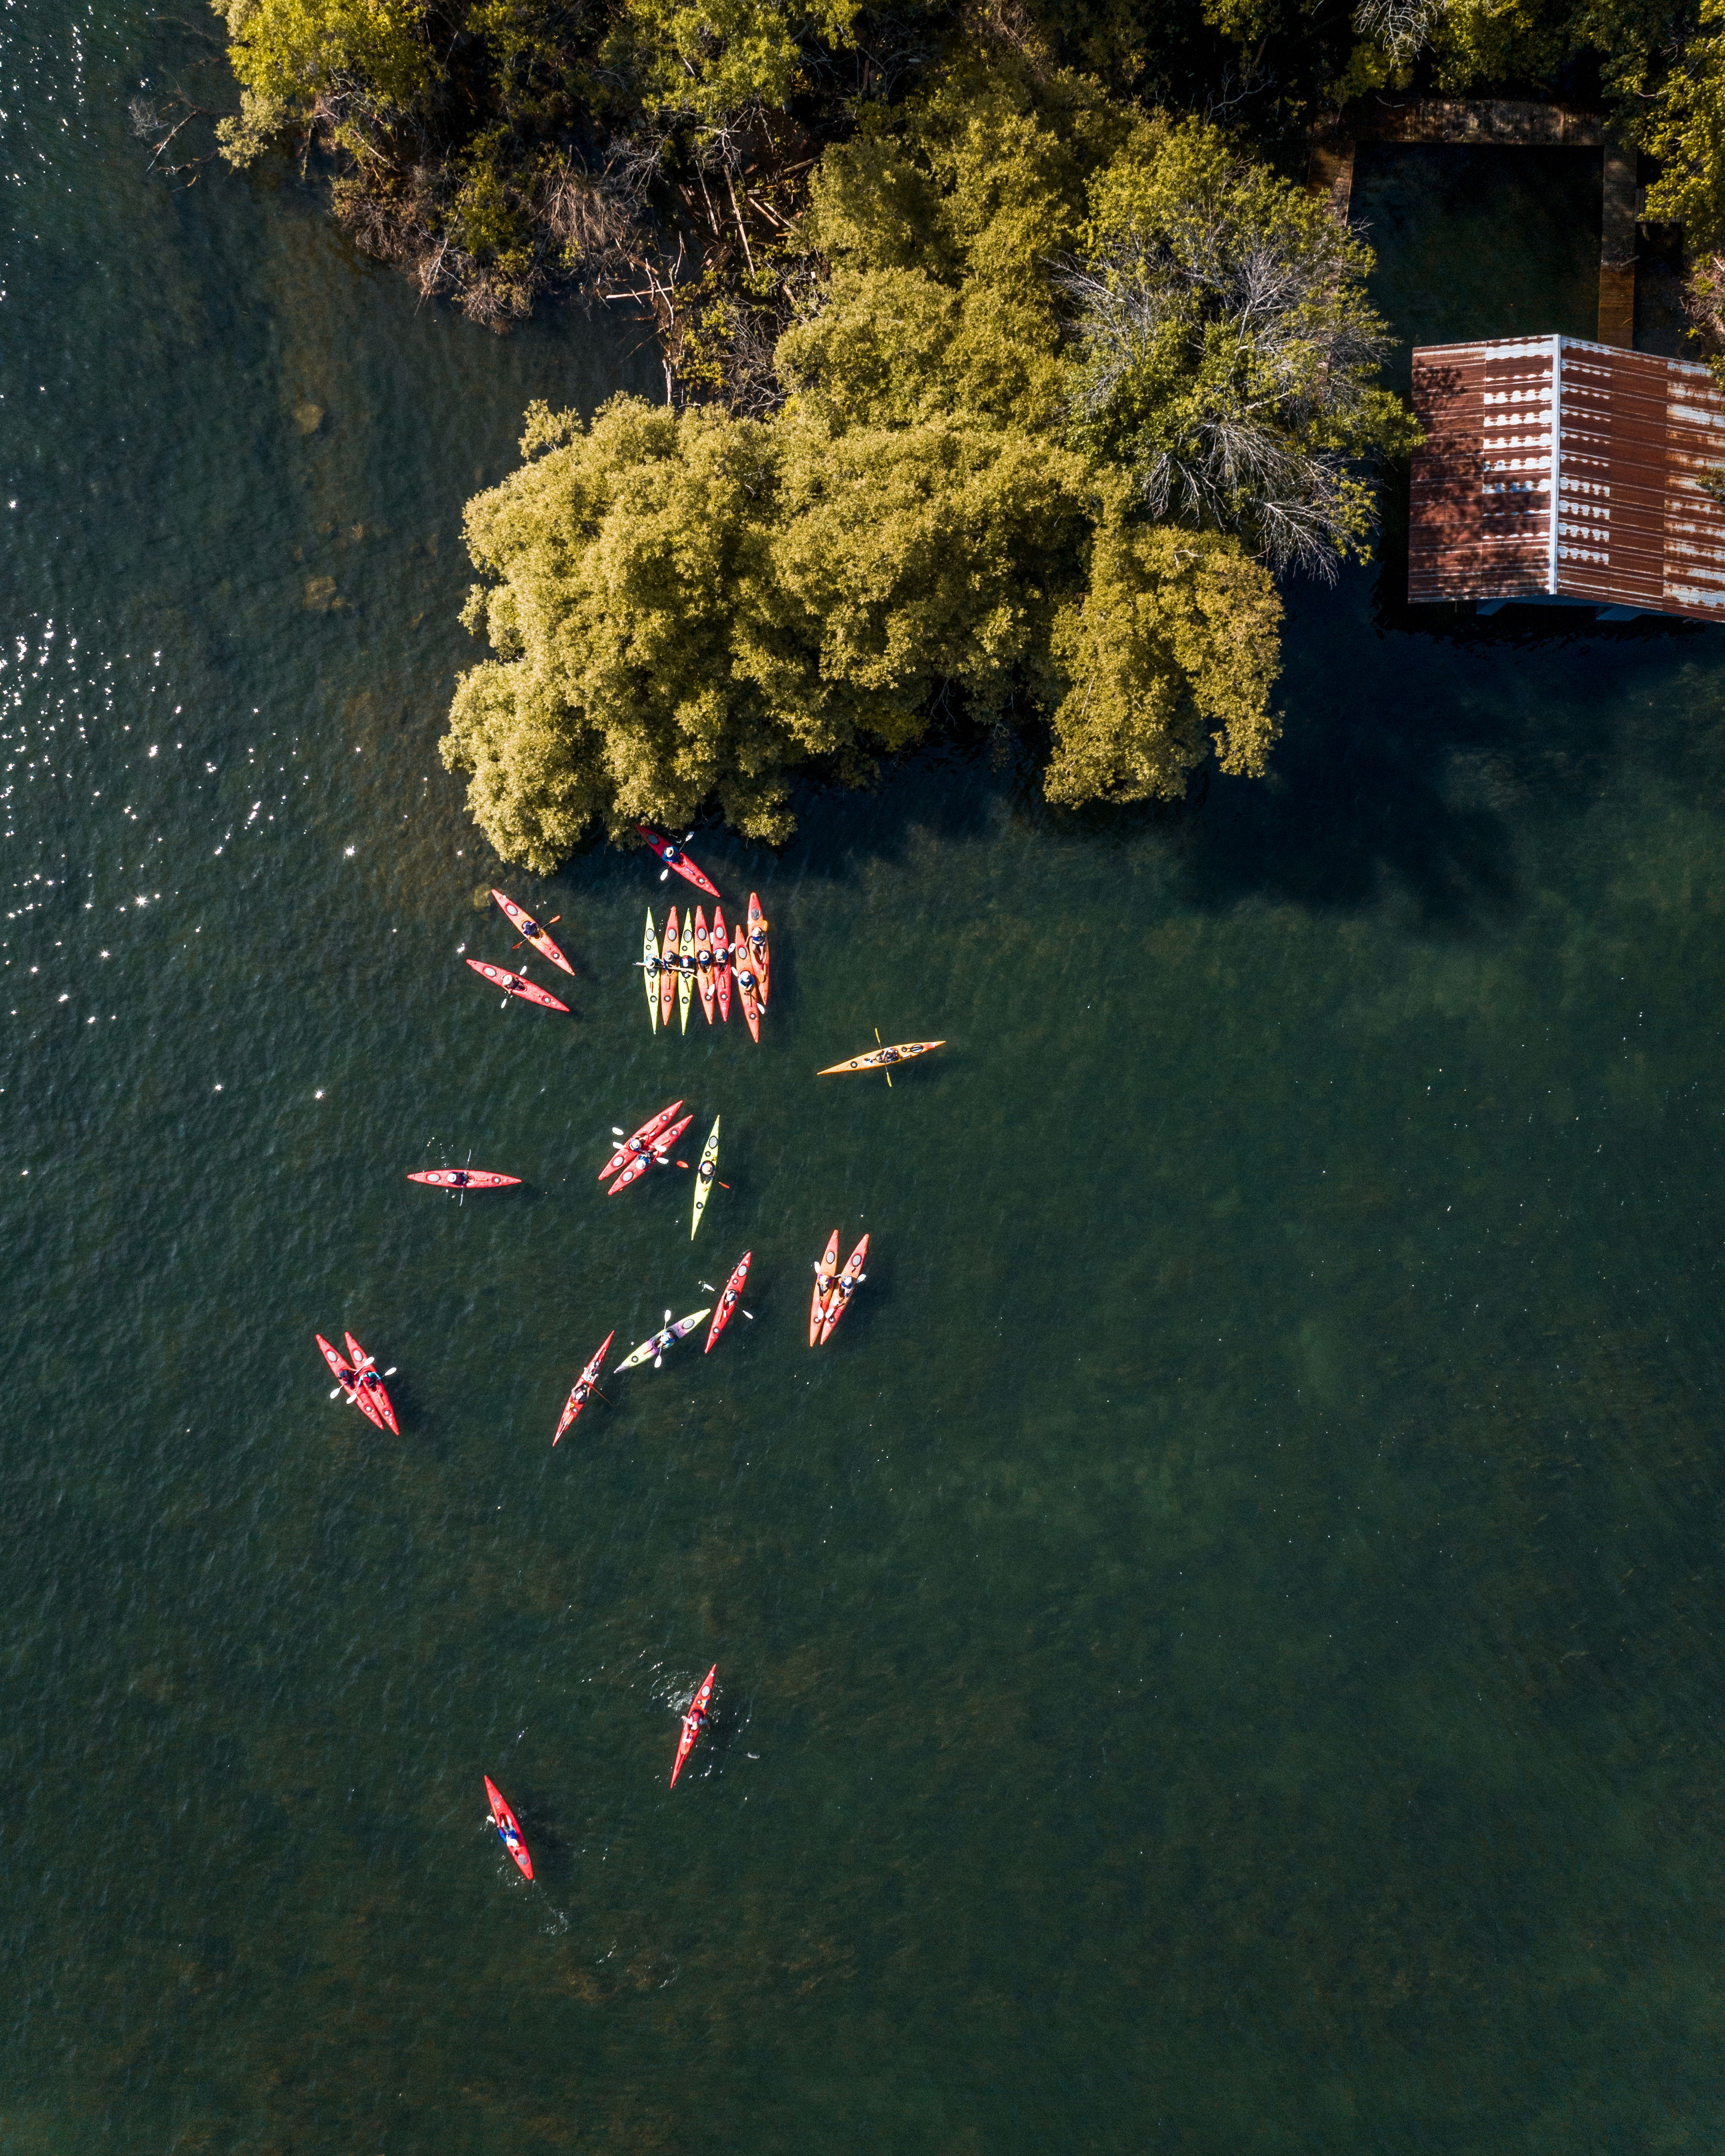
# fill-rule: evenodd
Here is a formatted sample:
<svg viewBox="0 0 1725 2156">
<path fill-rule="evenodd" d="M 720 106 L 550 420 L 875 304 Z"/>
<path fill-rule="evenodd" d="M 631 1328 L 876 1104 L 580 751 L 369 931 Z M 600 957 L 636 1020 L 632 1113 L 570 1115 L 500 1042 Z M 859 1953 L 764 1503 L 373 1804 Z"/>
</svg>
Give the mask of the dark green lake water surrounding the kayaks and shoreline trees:
<svg viewBox="0 0 1725 2156">
<path fill-rule="evenodd" d="M 1410 617 L 1391 502 L 1270 785 L 703 834 L 759 1050 L 649 1033 L 643 856 L 511 871 L 578 1015 L 498 1009 L 461 502 L 658 369 L 170 192 L 201 50 L 0 15 L 0 2145 L 1716 2150 L 1725 645 Z M 1596 172 L 1363 160 L 1397 328 L 1589 330 Z M 694 1246 L 593 1181 L 675 1093 Z"/>
</svg>

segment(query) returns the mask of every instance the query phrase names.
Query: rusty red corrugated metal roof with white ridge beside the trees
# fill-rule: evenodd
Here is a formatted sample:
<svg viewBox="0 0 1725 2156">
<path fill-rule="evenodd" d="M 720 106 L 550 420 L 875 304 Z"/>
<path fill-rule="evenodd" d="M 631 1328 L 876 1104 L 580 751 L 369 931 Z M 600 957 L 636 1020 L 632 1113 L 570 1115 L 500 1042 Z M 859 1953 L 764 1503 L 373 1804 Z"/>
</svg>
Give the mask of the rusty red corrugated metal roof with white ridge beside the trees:
<svg viewBox="0 0 1725 2156">
<path fill-rule="evenodd" d="M 1725 401 L 1578 336 L 1414 349 L 1410 599 L 1565 597 L 1725 621 Z"/>
</svg>

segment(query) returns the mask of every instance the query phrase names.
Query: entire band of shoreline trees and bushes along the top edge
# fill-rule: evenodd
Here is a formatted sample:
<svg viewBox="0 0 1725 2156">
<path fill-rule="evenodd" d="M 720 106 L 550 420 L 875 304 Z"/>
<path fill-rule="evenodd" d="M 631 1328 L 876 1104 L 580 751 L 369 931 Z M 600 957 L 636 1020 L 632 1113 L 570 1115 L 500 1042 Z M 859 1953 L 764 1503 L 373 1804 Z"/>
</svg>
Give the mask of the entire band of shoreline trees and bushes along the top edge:
<svg viewBox="0 0 1725 2156">
<path fill-rule="evenodd" d="M 664 405 L 535 407 L 468 505 L 444 755 L 535 869 L 703 806 L 781 839 L 800 765 L 949 718 L 1029 724 L 1065 804 L 1264 772 L 1276 578 L 1369 548 L 1414 438 L 1298 183 L 1322 108 L 1602 97 L 1725 250 L 1725 0 L 216 4 L 231 162 L 319 147 L 479 321 L 584 285 L 658 328 Z"/>
</svg>

